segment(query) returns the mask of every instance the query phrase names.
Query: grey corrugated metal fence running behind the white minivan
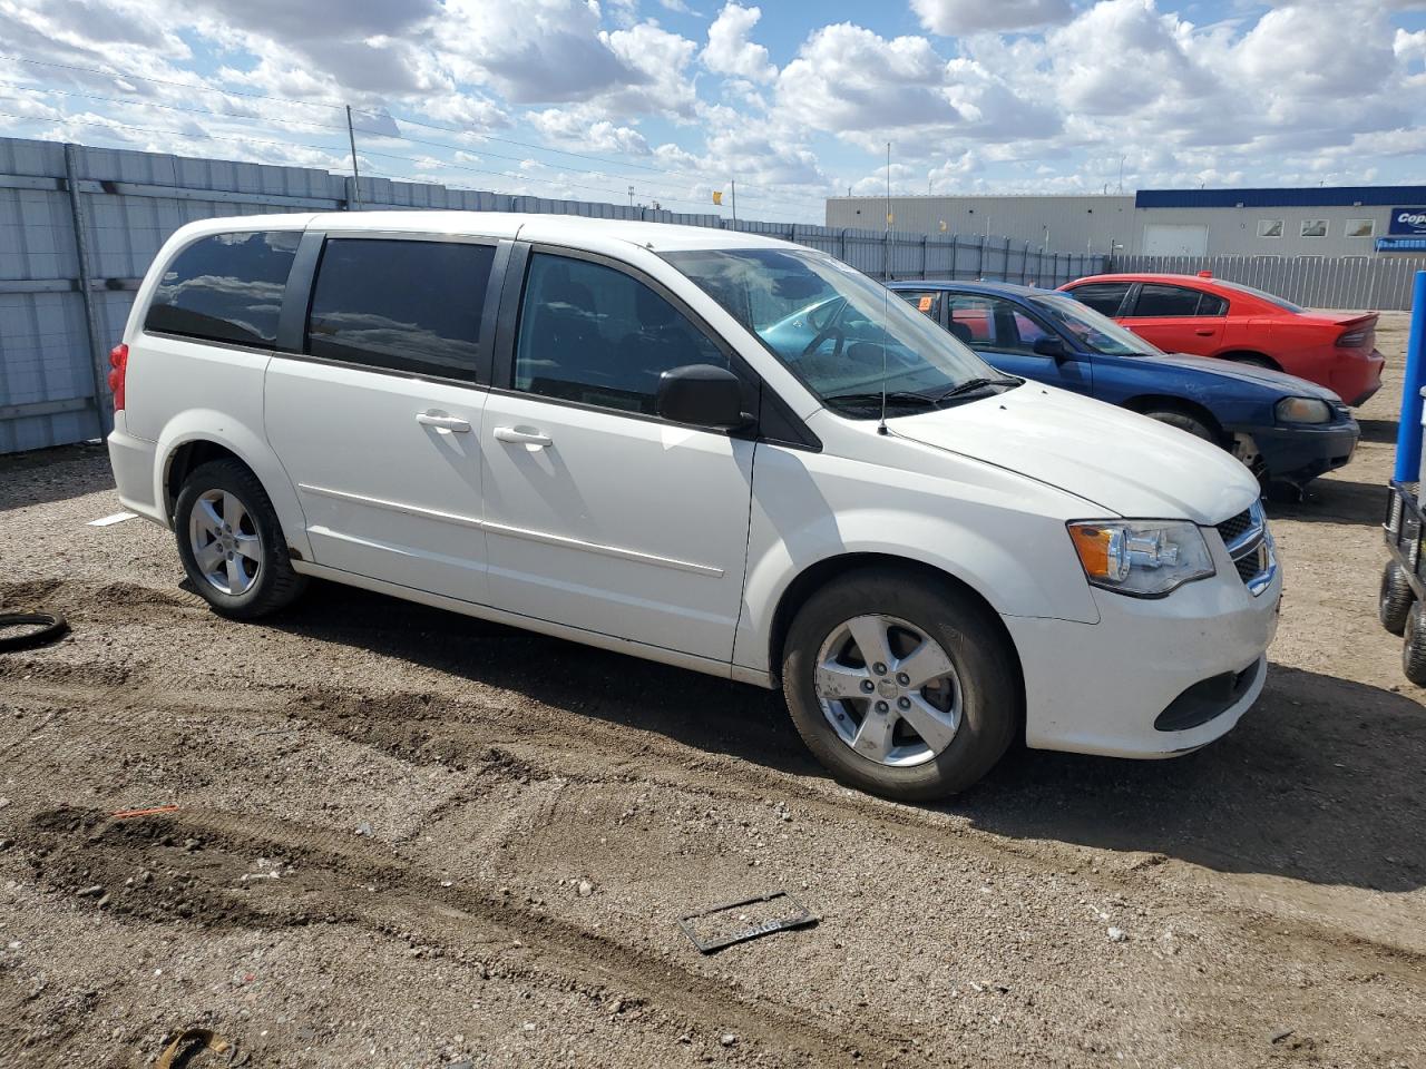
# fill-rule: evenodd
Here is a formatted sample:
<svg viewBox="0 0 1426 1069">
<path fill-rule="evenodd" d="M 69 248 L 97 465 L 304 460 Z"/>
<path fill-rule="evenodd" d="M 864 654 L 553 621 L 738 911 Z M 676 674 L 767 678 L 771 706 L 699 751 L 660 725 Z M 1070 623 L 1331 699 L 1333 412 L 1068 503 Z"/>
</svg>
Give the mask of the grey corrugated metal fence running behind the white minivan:
<svg viewBox="0 0 1426 1069">
<path fill-rule="evenodd" d="M 108 429 L 107 353 L 134 291 L 178 227 L 215 215 L 345 211 L 352 178 L 53 141 L 0 138 L 0 453 Z M 455 208 L 732 228 L 720 215 L 556 201 L 362 178 L 361 208 Z M 1004 238 L 833 229 L 740 220 L 739 231 L 824 249 L 874 278 L 990 278 L 1058 285 L 1101 257 Z"/>
</svg>

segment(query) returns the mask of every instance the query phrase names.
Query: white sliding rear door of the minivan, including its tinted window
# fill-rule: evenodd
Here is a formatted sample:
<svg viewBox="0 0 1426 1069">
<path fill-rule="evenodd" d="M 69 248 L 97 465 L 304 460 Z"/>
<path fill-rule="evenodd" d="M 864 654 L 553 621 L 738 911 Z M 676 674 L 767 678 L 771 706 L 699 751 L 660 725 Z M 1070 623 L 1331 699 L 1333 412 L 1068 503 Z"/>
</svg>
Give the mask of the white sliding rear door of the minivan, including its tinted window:
<svg viewBox="0 0 1426 1069">
<path fill-rule="evenodd" d="M 328 238 L 265 426 L 318 564 L 485 601 L 475 386 L 495 244 Z"/>
</svg>

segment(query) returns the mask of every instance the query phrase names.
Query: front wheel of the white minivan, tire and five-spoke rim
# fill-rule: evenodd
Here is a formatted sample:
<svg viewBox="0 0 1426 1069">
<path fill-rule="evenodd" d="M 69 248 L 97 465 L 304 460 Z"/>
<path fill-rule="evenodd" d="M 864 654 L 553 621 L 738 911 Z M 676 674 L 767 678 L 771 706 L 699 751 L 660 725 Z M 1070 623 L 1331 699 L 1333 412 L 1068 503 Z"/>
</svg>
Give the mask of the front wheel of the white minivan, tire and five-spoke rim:
<svg viewBox="0 0 1426 1069">
<path fill-rule="evenodd" d="M 900 801 L 965 790 L 1022 723 L 1000 621 L 950 583 L 886 567 L 847 574 L 801 607 L 783 693 L 833 775 Z"/>
</svg>

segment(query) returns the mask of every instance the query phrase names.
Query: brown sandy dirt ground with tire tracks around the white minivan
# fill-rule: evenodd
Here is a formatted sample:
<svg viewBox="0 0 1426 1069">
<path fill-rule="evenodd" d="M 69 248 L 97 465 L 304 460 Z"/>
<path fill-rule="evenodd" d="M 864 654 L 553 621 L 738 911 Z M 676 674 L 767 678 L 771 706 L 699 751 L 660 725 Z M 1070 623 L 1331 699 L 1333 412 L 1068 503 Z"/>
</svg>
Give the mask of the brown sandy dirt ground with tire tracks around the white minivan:
<svg viewBox="0 0 1426 1069">
<path fill-rule="evenodd" d="M 1426 1066 L 1426 716 L 1376 623 L 1389 386 L 1272 506 L 1258 707 L 1168 763 L 838 787 L 774 696 L 314 586 L 180 587 L 97 448 L 0 465 L 0 1065 Z M 127 808 L 177 805 L 128 820 Z M 700 956 L 683 912 L 820 924 Z"/>
</svg>

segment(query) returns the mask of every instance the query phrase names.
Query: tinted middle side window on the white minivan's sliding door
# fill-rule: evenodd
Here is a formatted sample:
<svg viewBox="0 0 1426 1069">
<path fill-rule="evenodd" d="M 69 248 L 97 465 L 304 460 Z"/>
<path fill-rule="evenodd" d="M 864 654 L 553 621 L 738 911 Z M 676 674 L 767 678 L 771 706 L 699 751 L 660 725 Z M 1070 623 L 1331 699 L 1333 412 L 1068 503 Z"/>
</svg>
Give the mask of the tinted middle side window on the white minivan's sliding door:
<svg viewBox="0 0 1426 1069">
<path fill-rule="evenodd" d="M 475 379 L 492 245 L 331 238 L 307 321 L 312 356 Z"/>
</svg>

